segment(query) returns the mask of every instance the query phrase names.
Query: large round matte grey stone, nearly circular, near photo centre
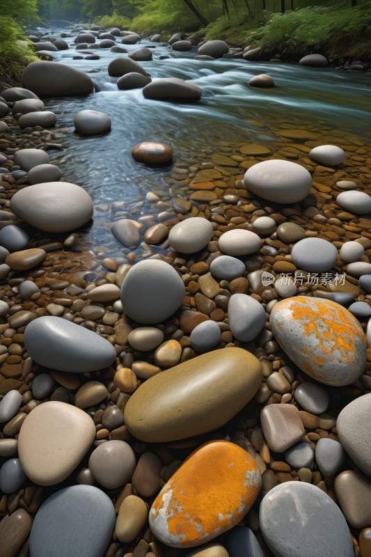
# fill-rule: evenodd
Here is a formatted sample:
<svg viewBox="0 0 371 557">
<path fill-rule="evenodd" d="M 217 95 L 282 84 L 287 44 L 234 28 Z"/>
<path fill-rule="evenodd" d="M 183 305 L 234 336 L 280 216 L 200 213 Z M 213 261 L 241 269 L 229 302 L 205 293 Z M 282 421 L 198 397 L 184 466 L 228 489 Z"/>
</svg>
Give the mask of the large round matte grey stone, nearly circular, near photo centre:
<svg viewBox="0 0 371 557">
<path fill-rule="evenodd" d="M 184 294 L 184 283 L 175 269 L 156 259 L 136 263 L 121 287 L 126 315 L 143 324 L 171 317 L 182 304 Z"/>
</svg>

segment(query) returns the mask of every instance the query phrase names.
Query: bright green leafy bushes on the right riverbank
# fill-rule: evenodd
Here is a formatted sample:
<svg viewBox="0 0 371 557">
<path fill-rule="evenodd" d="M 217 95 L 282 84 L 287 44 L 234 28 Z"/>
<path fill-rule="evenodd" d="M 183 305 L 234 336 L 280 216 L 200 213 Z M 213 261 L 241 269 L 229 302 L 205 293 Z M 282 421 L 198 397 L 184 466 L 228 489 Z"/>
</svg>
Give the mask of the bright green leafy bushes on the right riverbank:
<svg viewBox="0 0 371 557">
<path fill-rule="evenodd" d="M 348 7 L 345 7 L 347 5 Z M 371 35 L 371 6 L 368 2 L 352 8 L 313 7 L 272 14 L 264 26 L 247 33 L 246 44 L 262 46 L 267 54 L 285 52 L 297 57 L 310 52 L 327 56 L 367 54 Z"/>
</svg>

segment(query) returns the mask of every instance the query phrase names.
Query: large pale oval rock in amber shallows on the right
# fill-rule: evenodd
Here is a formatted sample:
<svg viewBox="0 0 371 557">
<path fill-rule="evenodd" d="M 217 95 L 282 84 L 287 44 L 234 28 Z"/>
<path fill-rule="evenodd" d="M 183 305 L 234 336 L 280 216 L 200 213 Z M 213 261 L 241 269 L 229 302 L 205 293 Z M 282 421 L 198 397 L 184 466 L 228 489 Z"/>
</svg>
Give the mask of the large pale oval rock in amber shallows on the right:
<svg viewBox="0 0 371 557">
<path fill-rule="evenodd" d="M 274 203 L 297 203 L 312 187 L 310 173 L 294 162 L 269 160 L 248 168 L 244 175 L 248 191 Z"/>
</svg>

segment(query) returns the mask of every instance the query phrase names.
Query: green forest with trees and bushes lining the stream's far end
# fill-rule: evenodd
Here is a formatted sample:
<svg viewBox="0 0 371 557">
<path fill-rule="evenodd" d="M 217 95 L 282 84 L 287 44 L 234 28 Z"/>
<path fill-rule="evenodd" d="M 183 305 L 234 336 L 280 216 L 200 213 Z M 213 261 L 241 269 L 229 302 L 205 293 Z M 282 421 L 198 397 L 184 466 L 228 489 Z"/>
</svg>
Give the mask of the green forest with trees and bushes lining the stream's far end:
<svg viewBox="0 0 371 557">
<path fill-rule="evenodd" d="M 254 44 L 283 59 L 319 52 L 371 59 L 371 0 L 0 0 L 0 82 L 19 84 L 36 60 L 27 29 L 77 22 Z"/>
</svg>

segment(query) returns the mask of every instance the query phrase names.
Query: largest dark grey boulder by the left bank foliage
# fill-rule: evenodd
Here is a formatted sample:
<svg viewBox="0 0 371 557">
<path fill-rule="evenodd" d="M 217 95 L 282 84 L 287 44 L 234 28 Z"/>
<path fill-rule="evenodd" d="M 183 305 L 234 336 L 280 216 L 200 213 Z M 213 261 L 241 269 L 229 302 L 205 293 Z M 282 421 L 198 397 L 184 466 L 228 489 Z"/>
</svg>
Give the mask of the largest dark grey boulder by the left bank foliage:
<svg viewBox="0 0 371 557">
<path fill-rule="evenodd" d="M 31 62 L 22 75 L 22 85 L 39 97 L 66 97 L 93 93 L 86 73 L 57 62 Z"/>
</svg>

